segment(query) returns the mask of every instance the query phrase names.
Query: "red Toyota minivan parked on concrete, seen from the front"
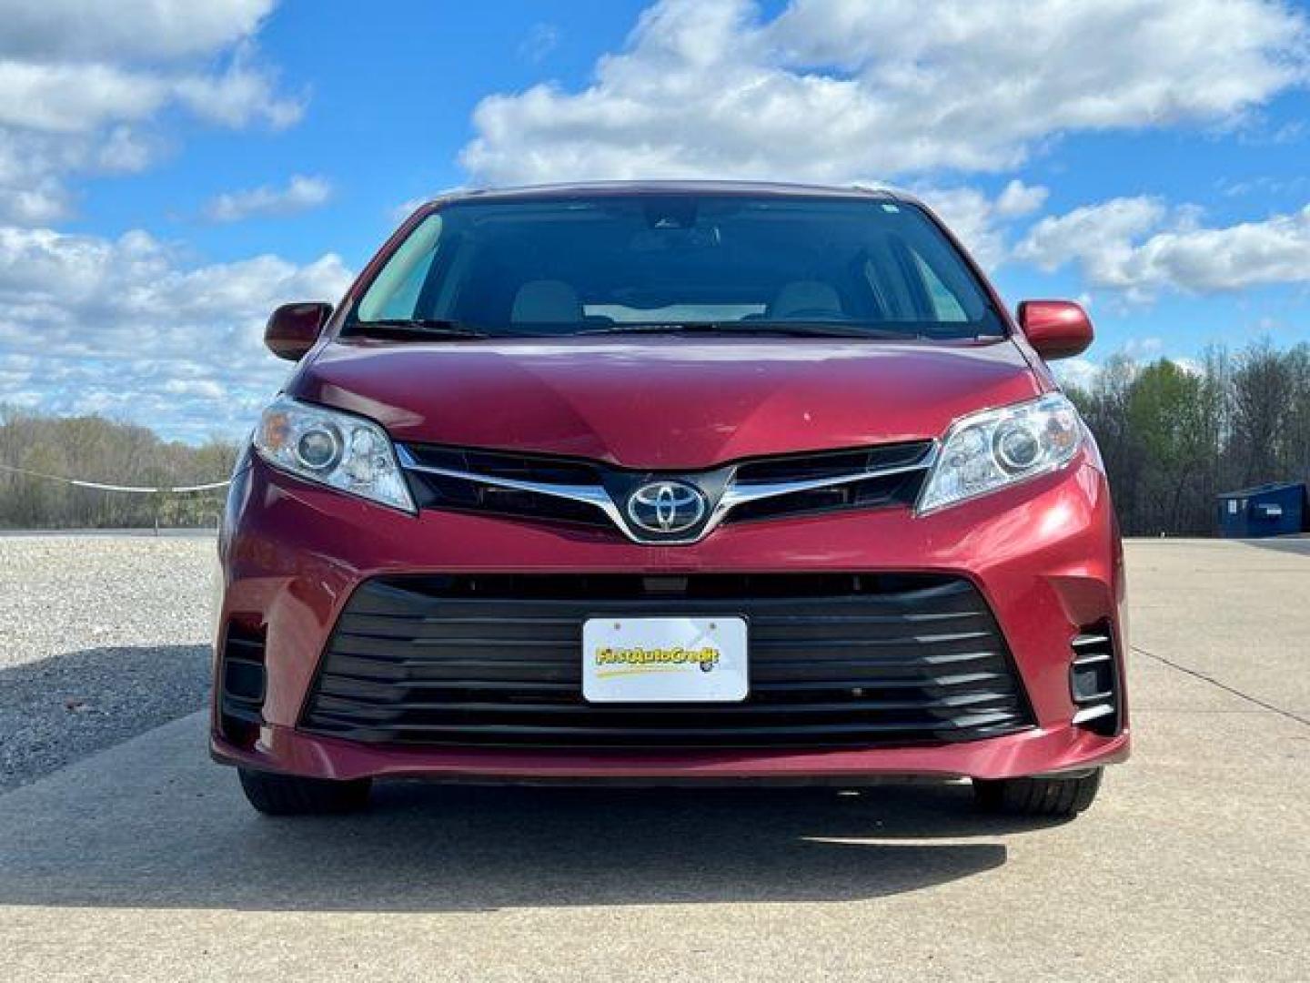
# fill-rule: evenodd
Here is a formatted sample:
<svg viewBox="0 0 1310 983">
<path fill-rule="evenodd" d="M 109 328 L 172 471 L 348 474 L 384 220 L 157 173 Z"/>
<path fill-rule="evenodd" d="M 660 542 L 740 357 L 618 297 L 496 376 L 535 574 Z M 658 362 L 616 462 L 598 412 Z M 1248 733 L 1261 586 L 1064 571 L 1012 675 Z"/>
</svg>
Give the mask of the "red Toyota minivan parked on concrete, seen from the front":
<svg viewBox="0 0 1310 983">
<path fill-rule="evenodd" d="M 237 464 L 214 756 L 375 779 L 967 777 L 1064 817 L 1128 755 L 1123 554 L 1047 360 L 901 194 L 643 182 L 419 208 Z"/>
</svg>

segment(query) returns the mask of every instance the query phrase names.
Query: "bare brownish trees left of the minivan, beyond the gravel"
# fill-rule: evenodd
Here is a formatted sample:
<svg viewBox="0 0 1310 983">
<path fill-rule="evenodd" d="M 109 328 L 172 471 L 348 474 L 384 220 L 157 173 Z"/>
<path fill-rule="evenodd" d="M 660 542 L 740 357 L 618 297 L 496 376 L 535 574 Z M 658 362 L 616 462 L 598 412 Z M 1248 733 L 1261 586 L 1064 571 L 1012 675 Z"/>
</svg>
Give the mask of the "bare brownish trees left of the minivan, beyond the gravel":
<svg viewBox="0 0 1310 983">
<path fill-rule="evenodd" d="M 224 489 L 102 492 L 35 474 L 166 489 L 223 481 L 236 455 L 231 442 L 191 447 L 102 417 L 45 417 L 0 406 L 0 528 L 212 528 Z"/>
</svg>

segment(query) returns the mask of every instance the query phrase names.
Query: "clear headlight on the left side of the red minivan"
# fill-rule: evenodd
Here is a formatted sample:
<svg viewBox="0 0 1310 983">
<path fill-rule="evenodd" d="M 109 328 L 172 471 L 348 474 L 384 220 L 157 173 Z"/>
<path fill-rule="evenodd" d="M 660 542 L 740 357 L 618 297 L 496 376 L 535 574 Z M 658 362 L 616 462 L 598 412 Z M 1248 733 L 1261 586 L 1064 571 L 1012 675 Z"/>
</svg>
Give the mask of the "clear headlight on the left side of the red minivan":
<svg viewBox="0 0 1310 983">
<path fill-rule="evenodd" d="M 363 417 L 279 396 L 259 419 L 254 448 L 305 481 L 414 511 L 390 438 Z"/>
</svg>

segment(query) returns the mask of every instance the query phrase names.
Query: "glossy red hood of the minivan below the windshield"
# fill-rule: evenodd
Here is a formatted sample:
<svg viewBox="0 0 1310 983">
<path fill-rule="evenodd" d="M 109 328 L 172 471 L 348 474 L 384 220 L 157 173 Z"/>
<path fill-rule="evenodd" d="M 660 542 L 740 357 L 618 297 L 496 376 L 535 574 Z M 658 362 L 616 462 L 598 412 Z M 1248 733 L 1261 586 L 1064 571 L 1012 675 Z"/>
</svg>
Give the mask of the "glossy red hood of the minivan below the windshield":
<svg viewBox="0 0 1310 983">
<path fill-rule="evenodd" d="M 334 341 L 288 384 L 402 442 L 648 469 L 939 436 L 1039 395 L 1010 341 Z"/>
</svg>

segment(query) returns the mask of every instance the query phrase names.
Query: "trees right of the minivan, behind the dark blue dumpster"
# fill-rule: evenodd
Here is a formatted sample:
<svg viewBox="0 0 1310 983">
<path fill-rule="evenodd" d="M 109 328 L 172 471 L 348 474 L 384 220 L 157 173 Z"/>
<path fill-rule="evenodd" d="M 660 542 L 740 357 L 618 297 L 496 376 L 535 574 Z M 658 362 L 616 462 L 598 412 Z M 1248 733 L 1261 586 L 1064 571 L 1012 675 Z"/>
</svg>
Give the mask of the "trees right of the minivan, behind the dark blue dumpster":
<svg viewBox="0 0 1310 983">
<path fill-rule="evenodd" d="M 1124 535 L 1213 535 L 1220 493 L 1310 480 L 1310 343 L 1213 346 L 1199 363 L 1114 357 L 1066 392 L 1096 435 Z"/>
</svg>

